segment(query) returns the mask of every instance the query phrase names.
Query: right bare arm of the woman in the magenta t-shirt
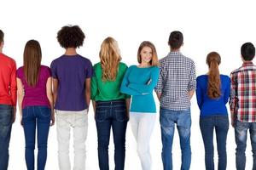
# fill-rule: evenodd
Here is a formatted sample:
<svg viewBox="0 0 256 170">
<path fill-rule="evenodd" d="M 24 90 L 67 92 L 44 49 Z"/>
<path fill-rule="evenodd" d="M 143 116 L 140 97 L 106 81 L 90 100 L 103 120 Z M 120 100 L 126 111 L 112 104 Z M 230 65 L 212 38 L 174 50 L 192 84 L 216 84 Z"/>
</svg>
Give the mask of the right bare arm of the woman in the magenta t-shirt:
<svg viewBox="0 0 256 170">
<path fill-rule="evenodd" d="M 50 126 L 53 126 L 55 124 L 55 111 L 54 111 L 54 97 L 53 97 L 53 93 L 52 93 L 52 78 L 51 77 L 49 77 L 46 82 L 46 94 L 47 94 L 47 98 L 49 100 L 50 111 L 51 111 Z"/>
</svg>

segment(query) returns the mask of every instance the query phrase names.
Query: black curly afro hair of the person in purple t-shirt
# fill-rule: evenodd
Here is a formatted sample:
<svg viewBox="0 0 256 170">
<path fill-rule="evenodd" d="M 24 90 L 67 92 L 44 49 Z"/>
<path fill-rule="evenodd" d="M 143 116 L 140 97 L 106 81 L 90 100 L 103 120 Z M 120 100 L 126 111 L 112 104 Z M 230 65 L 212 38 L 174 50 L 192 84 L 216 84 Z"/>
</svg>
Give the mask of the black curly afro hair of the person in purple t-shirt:
<svg viewBox="0 0 256 170">
<path fill-rule="evenodd" d="M 79 26 L 63 26 L 57 33 L 62 48 L 79 48 L 84 43 L 84 32 Z"/>
</svg>

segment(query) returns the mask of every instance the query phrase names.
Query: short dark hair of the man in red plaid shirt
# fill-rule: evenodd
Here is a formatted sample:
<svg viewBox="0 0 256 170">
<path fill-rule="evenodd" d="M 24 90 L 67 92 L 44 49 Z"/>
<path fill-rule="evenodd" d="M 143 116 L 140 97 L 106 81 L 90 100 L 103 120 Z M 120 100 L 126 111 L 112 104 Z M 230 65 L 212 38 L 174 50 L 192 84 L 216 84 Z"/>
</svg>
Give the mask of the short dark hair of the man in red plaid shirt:
<svg viewBox="0 0 256 170">
<path fill-rule="evenodd" d="M 252 42 L 246 42 L 241 46 L 241 57 L 246 61 L 253 60 L 255 56 L 255 48 Z"/>
</svg>

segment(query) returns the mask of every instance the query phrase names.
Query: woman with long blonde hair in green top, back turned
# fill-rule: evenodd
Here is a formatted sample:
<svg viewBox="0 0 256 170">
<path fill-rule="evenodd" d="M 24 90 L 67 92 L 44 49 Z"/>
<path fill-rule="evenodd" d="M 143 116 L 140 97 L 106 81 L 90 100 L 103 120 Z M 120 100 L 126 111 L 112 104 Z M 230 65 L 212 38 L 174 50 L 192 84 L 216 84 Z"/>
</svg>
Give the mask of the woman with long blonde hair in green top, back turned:
<svg viewBox="0 0 256 170">
<path fill-rule="evenodd" d="M 91 79 L 91 99 L 98 135 L 99 167 L 101 170 L 109 169 L 108 144 L 112 127 L 115 170 L 123 170 L 130 96 L 120 92 L 127 66 L 120 62 L 118 43 L 113 37 L 108 37 L 102 42 L 100 59 L 101 61 L 93 67 L 95 75 Z"/>
</svg>

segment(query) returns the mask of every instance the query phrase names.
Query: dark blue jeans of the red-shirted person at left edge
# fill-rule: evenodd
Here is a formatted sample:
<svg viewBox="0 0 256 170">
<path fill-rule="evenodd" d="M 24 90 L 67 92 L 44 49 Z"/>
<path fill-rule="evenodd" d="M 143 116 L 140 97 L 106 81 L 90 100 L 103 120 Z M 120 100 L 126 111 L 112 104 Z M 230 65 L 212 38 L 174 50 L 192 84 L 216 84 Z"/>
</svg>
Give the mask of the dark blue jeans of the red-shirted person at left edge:
<svg viewBox="0 0 256 170">
<path fill-rule="evenodd" d="M 9 139 L 14 109 L 11 105 L 0 105 L 0 169 L 7 170 L 9 161 Z"/>
</svg>

